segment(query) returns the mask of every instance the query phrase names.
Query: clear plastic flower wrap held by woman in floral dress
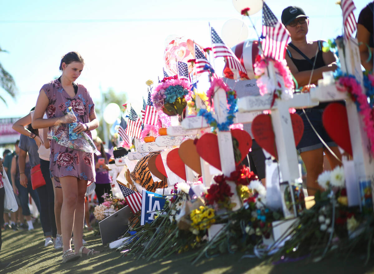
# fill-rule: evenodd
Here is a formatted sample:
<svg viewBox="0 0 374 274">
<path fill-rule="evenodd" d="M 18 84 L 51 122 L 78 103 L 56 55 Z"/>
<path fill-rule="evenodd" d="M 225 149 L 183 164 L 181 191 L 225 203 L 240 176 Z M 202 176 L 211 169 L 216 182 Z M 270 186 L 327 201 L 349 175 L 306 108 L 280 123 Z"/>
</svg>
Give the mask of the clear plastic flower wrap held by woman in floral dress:
<svg viewBox="0 0 374 274">
<path fill-rule="evenodd" d="M 84 131 L 79 134 L 79 138 L 77 138 L 76 140 L 70 140 L 69 130 L 67 125 L 65 124 L 59 124 L 51 127 L 47 138 L 54 140 L 59 145 L 68 147 L 70 149 L 76 149 L 100 155 L 100 152 L 98 152 L 98 150 L 96 149 L 95 143 L 93 143 L 92 139 Z"/>
</svg>

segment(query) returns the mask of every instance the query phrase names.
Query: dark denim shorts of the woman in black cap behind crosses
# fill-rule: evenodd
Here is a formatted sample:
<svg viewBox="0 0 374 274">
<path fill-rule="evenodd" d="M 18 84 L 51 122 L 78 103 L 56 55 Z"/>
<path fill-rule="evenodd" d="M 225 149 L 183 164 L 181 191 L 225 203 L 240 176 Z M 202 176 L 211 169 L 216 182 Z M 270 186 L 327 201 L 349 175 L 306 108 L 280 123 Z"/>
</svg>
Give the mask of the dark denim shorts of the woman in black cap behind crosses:
<svg viewBox="0 0 374 274">
<path fill-rule="evenodd" d="M 328 136 L 322 124 L 323 111 L 324 109 L 305 109 L 306 115 L 308 116 L 310 122 L 312 123 L 319 136 L 321 136 L 322 140 L 324 140 L 329 147 L 337 146 L 337 144 Z M 297 110 L 296 113 L 300 115 L 304 122 L 304 133 L 303 137 L 301 137 L 300 143 L 298 143 L 298 145 L 296 146 L 297 151 L 301 153 L 325 147 L 325 145 L 318 138 L 317 134 L 314 132 L 313 128 L 310 126 L 303 110 Z"/>
</svg>

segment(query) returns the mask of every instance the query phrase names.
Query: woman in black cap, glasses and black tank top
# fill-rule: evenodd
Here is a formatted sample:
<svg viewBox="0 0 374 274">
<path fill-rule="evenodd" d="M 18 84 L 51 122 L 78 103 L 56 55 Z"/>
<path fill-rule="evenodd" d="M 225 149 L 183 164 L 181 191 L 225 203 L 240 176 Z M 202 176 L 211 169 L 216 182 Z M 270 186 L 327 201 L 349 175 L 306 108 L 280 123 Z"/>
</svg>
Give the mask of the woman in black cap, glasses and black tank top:
<svg viewBox="0 0 374 274">
<path fill-rule="evenodd" d="M 331 52 L 322 52 L 323 41 L 308 41 L 309 19 L 300 7 L 289 6 L 282 12 L 282 23 L 291 36 L 291 43 L 287 46 L 286 61 L 291 73 L 294 75 L 299 86 L 315 84 L 322 79 L 322 72 L 334 71 L 336 66 L 335 55 Z M 305 109 L 306 114 L 313 127 L 331 148 L 341 158 L 337 144 L 335 144 L 326 133 L 322 125 L 322 112 L 327 104 Z M 304 121 L 304 134 L 297 146 L 300 156 L 307 171 L 307 189 L 309 195 L 314 195 L 319 189 L 317 183 L 318 175 L 323 171 L 324 152 L 328 158 L 331 168 L 339 165 L 339 161 L 325 149 L 324 144 L 315 134 L 302 110 L 297 113 Z"/>
</svg>

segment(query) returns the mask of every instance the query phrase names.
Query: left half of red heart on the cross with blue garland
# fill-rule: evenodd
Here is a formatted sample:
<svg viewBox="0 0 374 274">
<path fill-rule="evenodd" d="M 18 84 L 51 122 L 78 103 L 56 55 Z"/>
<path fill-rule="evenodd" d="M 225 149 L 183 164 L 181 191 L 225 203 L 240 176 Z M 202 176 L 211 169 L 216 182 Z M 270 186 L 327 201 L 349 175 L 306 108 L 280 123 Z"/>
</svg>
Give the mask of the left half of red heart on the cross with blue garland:
<svg viewBox="0 0 374 274">
<path fill-rule="evenodd" d="M 218 150 L 218 138 L 213 133 L 205 133 L 197 140 L 197 153 L 210 165 L 221 170 L 220 151 Z"/>
</svg>

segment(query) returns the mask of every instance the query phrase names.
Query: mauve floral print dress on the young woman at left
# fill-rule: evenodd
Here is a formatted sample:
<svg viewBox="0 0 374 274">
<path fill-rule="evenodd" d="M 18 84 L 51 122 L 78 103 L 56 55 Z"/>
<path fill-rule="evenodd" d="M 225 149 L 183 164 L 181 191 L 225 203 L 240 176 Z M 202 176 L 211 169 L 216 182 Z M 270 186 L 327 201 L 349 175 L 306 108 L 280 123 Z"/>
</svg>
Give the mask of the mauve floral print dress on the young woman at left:
<svg viewBox="0 0 374 274">
<path fill-rule="evenodd" d="M 83 85 L 77 85 L 78 91 L 71 98 L 62 88 L 58 79 L 43 85 L 42 89 L 48 97 L 47 117 L 62 117 L 67 113 L 68 107 L 72 107 L 78 122 L 88 123 L 89 116 L 95 110 L 95 104 Z M 68 124 L 62 124 L 61 130 L 68 131 Z M 86 133 L 91 136 L 90 131 Z M 55 186 L 61 187 L 59 177 L 74 176 L 87 180 L 88 185 L 95 182 L 95 162 L 93 153 L 87 153 L 76 149 L 70 149 L 57 144 L 54 140 L 50 143 L 50 167 L 52 176 L 55 177 Z"/>
</svg>

